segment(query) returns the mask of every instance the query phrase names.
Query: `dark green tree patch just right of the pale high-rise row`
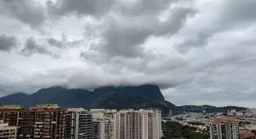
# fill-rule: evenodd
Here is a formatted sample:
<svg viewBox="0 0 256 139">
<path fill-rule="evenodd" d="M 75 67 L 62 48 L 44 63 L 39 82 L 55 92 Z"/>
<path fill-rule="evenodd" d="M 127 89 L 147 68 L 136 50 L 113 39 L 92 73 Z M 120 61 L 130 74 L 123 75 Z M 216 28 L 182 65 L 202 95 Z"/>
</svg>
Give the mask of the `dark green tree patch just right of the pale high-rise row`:
<svg viewBox="0 0 256 139">
<path fill-rule="evenodd" d="M 162 139 L 208 139 L 209 135 L 196 133 L 195 127 L 182 126 L 178 122 L 162 122 Z"/>
</svg>

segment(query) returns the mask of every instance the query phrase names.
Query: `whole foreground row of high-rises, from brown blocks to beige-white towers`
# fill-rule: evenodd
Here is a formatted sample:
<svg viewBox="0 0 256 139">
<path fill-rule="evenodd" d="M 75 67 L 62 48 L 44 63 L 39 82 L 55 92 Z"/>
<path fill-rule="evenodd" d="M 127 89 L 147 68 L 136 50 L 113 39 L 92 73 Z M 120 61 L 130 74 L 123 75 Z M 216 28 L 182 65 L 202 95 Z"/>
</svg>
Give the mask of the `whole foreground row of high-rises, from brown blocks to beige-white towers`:
<svg viewBox="0 0 256 139">
<path fill-rule="evenodd" d="M 105 110 L 60 108 L 38 104 L 0 106 L 0 119 L 12 127 L 18 139 L 160 139 L 161 112 L 158 110 Z"/>
</svg>

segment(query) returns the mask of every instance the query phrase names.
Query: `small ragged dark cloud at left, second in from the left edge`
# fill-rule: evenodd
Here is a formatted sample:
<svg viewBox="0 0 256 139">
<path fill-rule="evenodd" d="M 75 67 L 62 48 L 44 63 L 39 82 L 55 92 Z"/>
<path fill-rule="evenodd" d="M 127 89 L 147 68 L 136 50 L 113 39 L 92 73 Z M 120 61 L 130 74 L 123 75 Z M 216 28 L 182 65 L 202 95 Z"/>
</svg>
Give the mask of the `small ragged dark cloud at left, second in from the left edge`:
<svg viewBox="0 0 256 139">
<path fill-rule="evenodd" d="M 32 54 L 45 54 L 57 58 L 57 55 L 52 51 L 49 51 L 44 46 L 36 43 L 34 37 L 29 37 L 26 40 L 25 47 L 21 50 L 21 54 L 25 57 L 30 57 Z"/>
</svg>

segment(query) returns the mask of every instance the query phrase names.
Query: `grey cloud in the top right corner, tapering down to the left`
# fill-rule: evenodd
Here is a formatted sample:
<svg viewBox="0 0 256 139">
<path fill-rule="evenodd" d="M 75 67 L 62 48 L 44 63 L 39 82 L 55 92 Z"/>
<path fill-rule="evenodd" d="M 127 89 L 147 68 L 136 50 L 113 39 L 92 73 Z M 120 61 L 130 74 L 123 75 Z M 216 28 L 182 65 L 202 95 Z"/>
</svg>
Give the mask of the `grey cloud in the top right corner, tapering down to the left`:
<svg viewBox="0 0 256 139">
<path fill-rule="evenodd" d="M 193 39 L 185 39 L 178 44 L 177 50 L 187 52 L 193 47 L 204 47 L 208 40 L 217 33 L 228 31 L 234 28 L 244 28 L 256 21 L 256 1 L 225 1 L 221 6 L 221 16 L 217 18 L 214 25 L 203 28 L 196 33 Z"/>
</svg>

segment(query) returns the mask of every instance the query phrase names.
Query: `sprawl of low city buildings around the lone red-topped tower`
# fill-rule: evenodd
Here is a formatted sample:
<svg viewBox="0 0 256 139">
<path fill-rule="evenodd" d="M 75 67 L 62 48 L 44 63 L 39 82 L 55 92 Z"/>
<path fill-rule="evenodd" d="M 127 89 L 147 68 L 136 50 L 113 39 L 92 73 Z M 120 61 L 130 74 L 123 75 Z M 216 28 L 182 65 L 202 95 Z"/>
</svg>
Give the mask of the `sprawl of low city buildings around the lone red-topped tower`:
<svg viewBox="0 0 256 139">
<path fill-rule="evenodd" d="M 239 138 L 256 138 L 256 114 L 250 109 L 246 110 L 227 110 L 226 112 L 183 112 L 172 117 L 163 118 L 163 122 L 178 122 L 182 126 L 189 126 L 195 129 L 196 133 L 210 137 L 210 126 L 215 119 L 225 117 L 233 112 L 229 118 L 235 118 L 238 123 L 237 130 Z M 164 125 L 166 125 L 164 123 Z"/>
</svg>

